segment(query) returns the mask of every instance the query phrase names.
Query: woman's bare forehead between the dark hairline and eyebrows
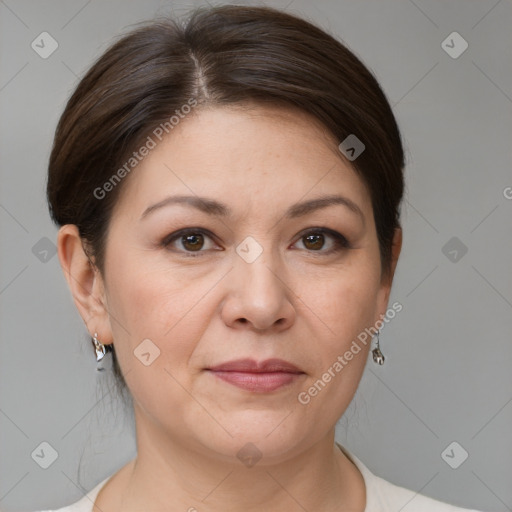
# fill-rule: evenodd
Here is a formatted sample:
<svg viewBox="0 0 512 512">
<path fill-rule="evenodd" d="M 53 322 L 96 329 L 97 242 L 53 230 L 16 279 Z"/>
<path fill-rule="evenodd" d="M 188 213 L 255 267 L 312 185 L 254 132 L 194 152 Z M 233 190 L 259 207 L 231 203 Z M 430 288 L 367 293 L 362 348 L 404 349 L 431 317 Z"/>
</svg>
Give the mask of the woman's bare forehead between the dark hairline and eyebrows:
<svg viewBox="0 0 512 512">
<path fill-rule="evenodd" d="M 313 116 L 275 106 L 196 110 L 137 164 L 116 206 L 138 216 L 169 194 L 214 196 L 246 211 L 340 192 L 368 209 L 362 180 Z M 236 206 L 235 206 L 236 208 Z M 371 208 L 371 205 L 370 205 Z"/>
</svg>

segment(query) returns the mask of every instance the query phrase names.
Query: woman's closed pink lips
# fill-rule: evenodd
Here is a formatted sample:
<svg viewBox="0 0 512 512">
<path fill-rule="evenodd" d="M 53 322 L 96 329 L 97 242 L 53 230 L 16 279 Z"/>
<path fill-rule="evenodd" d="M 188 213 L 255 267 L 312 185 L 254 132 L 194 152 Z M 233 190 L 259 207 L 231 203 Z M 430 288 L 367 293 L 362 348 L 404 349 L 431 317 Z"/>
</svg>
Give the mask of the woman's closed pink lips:
<svg viewBox="0 0 512 512">
<path fill-rule="evenodd" d="M 247 391 L 268 393 L 298 381 L 305 375 L 282 359 L 239 359 L 206 369 L 216 378 Z"/>
</svg>

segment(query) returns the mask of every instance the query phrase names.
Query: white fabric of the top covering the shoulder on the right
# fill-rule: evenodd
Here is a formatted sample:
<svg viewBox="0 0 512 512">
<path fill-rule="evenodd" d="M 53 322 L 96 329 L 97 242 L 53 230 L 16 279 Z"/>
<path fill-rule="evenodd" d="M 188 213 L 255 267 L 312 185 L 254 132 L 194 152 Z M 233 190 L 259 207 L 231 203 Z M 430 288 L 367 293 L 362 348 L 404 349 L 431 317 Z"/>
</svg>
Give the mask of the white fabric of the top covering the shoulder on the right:
<svg viewBox="0 0 512 512">
<path fill-rule="evenodd" d="M 338 443 L 337 443 L 338 444 Z M 357 466 L 366 485 L 364 512 L 482 512 L 450 505 L 405 487 L 395 485 L 374 475 L 354 454 L 338 444 L 345 455 Z"/>
</svg>

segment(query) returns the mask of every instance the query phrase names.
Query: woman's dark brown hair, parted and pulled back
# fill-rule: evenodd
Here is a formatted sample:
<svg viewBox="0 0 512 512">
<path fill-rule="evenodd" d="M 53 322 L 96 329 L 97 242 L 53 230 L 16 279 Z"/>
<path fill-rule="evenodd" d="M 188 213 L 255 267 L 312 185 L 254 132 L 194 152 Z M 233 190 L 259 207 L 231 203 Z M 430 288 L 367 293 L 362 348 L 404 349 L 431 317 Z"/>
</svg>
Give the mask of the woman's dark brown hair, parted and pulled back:
<svg viewBox="0 0 512 512">
<path fill-rule="evenodd" d="M 124 35 L 89 69 L 64 109 L 49 161 L 50 215 L 58 226 L 78 227 L 102 275 L 109 221 L 129 177 L 101 199 L 94 191 L 191 99 L 195 111 L 248 102 L 295 107 L 316 117 L 338 143 L 356 135 L 365 150 L 351 165 L 368 188 L 382 272 L 389 274 L 405 162 L 377 80 L 346 46 L 306 20 L 269 7 L 224 5 L 195 9 L 184 23 L 146 22 Z M 124 388 L 114 347 L 112 357 Z"/>
</svg>

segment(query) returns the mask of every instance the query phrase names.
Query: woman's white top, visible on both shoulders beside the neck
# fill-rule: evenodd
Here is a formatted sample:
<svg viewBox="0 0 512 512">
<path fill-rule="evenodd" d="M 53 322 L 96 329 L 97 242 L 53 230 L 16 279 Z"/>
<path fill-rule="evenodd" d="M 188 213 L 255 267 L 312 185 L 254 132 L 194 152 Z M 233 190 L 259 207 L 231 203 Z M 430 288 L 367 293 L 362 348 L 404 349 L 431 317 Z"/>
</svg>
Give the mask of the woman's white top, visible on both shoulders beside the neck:
<svg viewBox="0 0 512 512">
<path fill-rule="evenodd" d="M 449 505 L 415 491 L 399 487 L 374 475 L 355 455 L 336 443 L 341 451 L 356 465 L 366 486 L 366 507 L 363 512 L 482 512 Z M 111 477 L 105 478 L 79 501 L 58 510 L 41 512 L 94 512 L 93 505 L 101 488 Z"/>
</svg>

